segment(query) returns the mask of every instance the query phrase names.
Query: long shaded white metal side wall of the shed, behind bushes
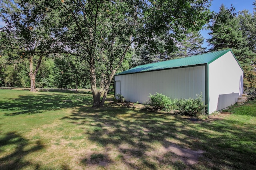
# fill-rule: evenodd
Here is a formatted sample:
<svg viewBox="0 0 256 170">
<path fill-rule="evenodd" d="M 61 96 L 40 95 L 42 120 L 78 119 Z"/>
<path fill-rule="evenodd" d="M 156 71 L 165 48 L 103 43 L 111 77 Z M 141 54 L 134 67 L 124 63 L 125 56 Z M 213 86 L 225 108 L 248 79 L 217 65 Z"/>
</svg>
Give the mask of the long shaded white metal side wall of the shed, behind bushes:
<svg viewBox="0 0 256 170">
<path fill-rule="evenodd" d="M 156 92 L 188 99 L 202 91 L 205 100 L 205 66 L 116 75 L 115 81 L 121 81 L 121 93 L 130 102 L 144 103 Z"/>
</svg>

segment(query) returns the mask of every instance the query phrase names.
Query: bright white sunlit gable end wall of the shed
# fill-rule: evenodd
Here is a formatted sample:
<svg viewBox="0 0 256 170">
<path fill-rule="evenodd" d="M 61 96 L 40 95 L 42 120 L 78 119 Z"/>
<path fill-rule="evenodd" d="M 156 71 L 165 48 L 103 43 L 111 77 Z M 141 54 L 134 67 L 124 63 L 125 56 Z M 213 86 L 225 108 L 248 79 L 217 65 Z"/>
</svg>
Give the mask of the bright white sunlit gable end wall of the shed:
<svg viewBox="0 0 256 170">
<path fill-rule="evenodd" d="M 209 113 L 233 105 L 242 94 L 243 71 L 231 51 L 209 64 L 208 79 Z"/>
</svg>

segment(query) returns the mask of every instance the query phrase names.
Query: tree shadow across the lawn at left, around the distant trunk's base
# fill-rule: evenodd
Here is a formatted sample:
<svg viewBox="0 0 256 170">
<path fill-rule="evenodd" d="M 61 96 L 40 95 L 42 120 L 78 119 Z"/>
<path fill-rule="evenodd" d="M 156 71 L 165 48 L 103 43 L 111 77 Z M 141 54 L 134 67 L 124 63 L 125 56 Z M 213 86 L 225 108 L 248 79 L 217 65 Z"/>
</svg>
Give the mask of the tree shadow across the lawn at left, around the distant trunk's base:
<svg viewBox="0 0 256 170">
<path fill-rule="evenodd" d="M 4 98 L 0 101 L 0 111 L 4 115 L 34 114 L 46 111 L 91 105 L 92 97 L 86 93 L 38 93 L 19 95 L 16 99 Z"/>
</svg>

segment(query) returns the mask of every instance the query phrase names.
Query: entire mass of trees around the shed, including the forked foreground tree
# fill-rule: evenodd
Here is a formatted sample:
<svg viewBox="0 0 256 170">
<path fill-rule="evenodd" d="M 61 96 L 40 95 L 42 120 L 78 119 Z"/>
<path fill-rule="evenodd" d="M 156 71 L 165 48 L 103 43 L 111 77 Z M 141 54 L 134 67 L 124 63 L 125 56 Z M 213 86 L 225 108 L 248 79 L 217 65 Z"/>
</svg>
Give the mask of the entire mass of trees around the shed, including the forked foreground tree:
<svg viewBox="0 0 256 170">
<path fill-rule="evenodd" d="M 0 86 L 90 88 L 104 105 L 119 71 L 232 48 L 255 91 L 255 9 L 211 0 L 0 0 Z M 253 4 L 255 6 L 255 2 Z M 202 47 L 210 30 L 210 49 Z M 103 96 L 103 97 L 101 97 Z"/>
</svg>

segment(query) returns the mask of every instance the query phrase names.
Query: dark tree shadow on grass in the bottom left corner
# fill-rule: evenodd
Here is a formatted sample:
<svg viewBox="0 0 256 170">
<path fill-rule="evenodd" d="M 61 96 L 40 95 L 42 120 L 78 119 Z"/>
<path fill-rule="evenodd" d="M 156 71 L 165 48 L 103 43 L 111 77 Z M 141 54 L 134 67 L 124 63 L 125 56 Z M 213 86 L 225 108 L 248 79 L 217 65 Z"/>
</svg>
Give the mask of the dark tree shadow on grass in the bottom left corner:
<svg viewBox="0 0 256 170">
<path fill-rule="evenodd" d="M 24 157 L 32 152 L 41 150 L 44 146 L 40 140 L 36 141 L 35 146 L 26 148 L 28 144 L 29 141 L 16 132 L 8 132 L 0 138 L 0 169 L 13 170 L 21 169 L 26 166 L 33 166 L 35 169 L 38 169 L 40 167 L 39 164 L 32 164 L 24 160 Z M 9 153 L 8 150 L 10 150 Z"/>
</svg>

